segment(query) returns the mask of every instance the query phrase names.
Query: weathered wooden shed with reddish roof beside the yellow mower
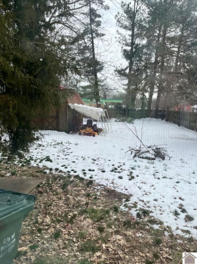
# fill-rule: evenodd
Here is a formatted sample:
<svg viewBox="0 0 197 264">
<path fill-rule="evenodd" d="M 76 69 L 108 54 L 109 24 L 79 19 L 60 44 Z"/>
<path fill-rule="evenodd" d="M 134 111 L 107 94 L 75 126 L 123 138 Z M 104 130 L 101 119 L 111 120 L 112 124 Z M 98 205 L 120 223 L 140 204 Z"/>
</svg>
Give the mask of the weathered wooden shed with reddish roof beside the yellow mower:
<svg viewBox="0 0 197 264">
<path fill-rule="evenodd" d="M 60 89 L 65 88 L 60 86 Z M 46 115 L 34 118 L 33 126 L 39 130 L 57 130 L 66 133 L 77 131 L 83 123 L 83 115 L 71 109 L 69 103 L 84 104 L 80 95 L 74 92 L 58 109 L 51 109 Z"/>
</svg>

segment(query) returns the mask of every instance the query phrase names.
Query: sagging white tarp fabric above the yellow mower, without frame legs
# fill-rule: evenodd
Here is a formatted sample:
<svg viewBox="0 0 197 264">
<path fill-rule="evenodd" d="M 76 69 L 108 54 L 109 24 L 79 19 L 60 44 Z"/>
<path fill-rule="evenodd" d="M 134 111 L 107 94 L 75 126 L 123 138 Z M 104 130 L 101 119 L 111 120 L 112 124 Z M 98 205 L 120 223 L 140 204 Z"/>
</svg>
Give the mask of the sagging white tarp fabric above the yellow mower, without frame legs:
<svg viewBox="0 0 197 264">
<path fill-rule="evenodd" d="M 101 117 L 105 117 L 105 110 L 102 108 L 96 108 L 83 104 L 68 104 L 71 109 L 75 109 L 78 113 L 83 114 L 86 117 L 90 117 L 99 121 Z"/>
</svg>

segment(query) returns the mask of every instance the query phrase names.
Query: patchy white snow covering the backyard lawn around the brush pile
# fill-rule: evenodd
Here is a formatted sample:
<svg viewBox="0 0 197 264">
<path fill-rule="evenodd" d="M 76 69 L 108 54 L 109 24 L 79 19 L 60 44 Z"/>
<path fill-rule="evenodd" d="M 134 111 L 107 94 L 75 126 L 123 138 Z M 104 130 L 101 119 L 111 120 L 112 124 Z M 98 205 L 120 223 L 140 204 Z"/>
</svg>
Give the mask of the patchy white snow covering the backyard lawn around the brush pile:
<svg viewBox="0 0 197 264">
<path fill-rule="evenodd" d="M 111 125 L 111 132 L 96 137 L 42 131 L 42 141 L 34 144 L 27 158 L 34 166 L 78 174 L 128 194 L 127 205 L 135 217 L 140 208 L 150 210 L 175 234 L 197 238 L 197 133 L 162 120 L 136 119 L 127 126 L 134 132 L 136 128 L 143 144 L 165 147 L 171 159 L 132 159 L 128 149 L 139 147 L 139 140 L 123 122 L 112 119 Z M 186 214 L 194 220 L 185 222 Z"/>
</svg>

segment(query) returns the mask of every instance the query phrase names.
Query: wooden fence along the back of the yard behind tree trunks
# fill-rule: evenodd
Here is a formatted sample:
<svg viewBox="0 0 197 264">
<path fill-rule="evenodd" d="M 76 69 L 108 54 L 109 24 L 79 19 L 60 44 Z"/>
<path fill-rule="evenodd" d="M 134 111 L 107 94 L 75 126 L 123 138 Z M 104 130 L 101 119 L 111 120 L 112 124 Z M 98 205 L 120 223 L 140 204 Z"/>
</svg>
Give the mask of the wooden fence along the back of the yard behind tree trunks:
<svg viewBox="0 0 197 264">
<path fill-rule="evenodd" d="M 110 118 L 115 118 L 121 115 L 125 116 L 125 111 L 123 109 L 107 109 L 107 113 Z M 128 111 L 128 116 L 135 119 L 146 117 L 146 115 L 147 115 L 147 110 L 144 109 L 138 109 L 134 111 L 133 109 L 129 109 Z M 151 110 L 151 117 L 153 116 L 154 116 L 154 110 Z M 179 113 L 177 111 L 170 110 L 168 117 L 169 117 L 169 121 L 173 122 L 174 124 L 178 125 L 178 123 L 180 122 L 181 126 L 197 131 L 197 113 L 184 112 L 184 111 Z"/>
</svg>

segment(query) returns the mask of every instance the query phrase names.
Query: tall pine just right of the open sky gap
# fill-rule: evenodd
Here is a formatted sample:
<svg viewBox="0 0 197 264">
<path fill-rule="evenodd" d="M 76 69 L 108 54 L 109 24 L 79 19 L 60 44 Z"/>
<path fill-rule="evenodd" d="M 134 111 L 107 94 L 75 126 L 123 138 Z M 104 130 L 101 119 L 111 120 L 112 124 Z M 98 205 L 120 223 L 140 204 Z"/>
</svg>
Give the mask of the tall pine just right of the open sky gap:
<svg viewBox="0 0 197 264">
<path fill-rule="evenodd" d="M 129 36 L 128 39 L 125 33 L 118 32 L 119 43 L 123 46 L 123 57 L 128 61 L 128 67 L 117 70 L 119 75 L 127 77 L 126 116 L 128 116 L 129 108 L 134 109 L 135 107 L 135 99 L 139 86 L 137 80 L 141 75 L 138 63 L 141 58 L 140 40 L 138 39 L 142 36 L 143 18 L 139 16 L 142 5 L 139 0 L 134 0 L 132 4 L 122 2 L 122 12 L 118 12 L 116 15 L 117 25 L 127 31 Z M 134 63 L 136 63 L 135 69 Z"/>
</svg>

